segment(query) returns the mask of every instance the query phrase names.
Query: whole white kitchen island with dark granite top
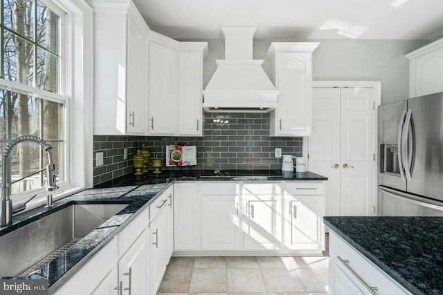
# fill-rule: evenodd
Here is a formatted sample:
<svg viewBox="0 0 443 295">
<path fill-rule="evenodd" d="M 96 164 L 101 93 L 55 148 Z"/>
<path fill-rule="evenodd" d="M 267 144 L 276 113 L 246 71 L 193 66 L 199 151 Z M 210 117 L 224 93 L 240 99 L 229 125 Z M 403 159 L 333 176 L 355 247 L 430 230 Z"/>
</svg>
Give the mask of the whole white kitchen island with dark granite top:
<svg viewBox="0 0 443 295">
<path fill-rule="evenodd" d="M 345 272 L 345 265 L 352 267 L 366 286 L 378 287 L 377 294 L 443 294 L 443 218 L 327 216 L 324 222 L 331 229 L 331 294 L 341 283 L 331 272 L 335 265 Z M 372 268 L 366 268 L 361 258 Z M 387 283 L 377 285 L 380 280 L 373 269 Z M 390 283 L 397 284 L 396 290 L 383 292 L 383 285 Z"/>
</svg>

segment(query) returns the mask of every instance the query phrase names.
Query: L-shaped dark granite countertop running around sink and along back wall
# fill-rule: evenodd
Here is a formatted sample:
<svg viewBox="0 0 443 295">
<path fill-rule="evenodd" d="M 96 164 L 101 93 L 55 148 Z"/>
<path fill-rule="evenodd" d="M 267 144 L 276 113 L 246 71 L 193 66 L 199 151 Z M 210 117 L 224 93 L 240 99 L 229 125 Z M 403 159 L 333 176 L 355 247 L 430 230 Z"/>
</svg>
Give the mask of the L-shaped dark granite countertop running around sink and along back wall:
<svg viewBox="0 0 443 295">
<path fill-rule="evenodd" d="M 81 238 L 72 247 L 67 249 L 64 254 L 58 256 L 51 263 L 42 267 L 38 272 L 27 278 L 48 278 L 50 292 L 60 287 L 68 280 L 86 260 L 86 256 L 92 256 L 105 246 L 105 240 L 110 240 L 129 222 L 129 219 L 135 218 L 141 213 L 141 208 L 156 196 L 168 183 L 172 181 L 299 181 L 299 180 L 327 180 L 322 175 L 316 173 L 294 173 L 293 178 L 282 178 L 281 171 L 257 170 L 257 171 L 220 171 L 219 174 L 214 171 L 201 171 L 186 169 L 177 171 L 162 171 L 160 175 L 153 175 L 152 171 L 139 178 L 134 175 L 127 175 L 118 182 L 107 182 L 100 184 L 94 189 L 85 189 L 66 198 L 55 201 L 54 207 L 37 207 L 24 213 L 20 213 L 12 218 L 12 225 L 0 227 L 0 236 L 6 235 L 15 229 L 24 227 L 40 218 L 51 215 L 56 211 L 62 210 L 72 204 L 128 204 L 125 209 L 118 212 L 115 216 L 109 218 L 105 223 L 94 229 L 90 234 Z M 126 223 L 125 223 L 126 222 Z M 123 225 L 123 227 L 120 227 Z M 80 261 L 82 260 L 82 261 Z M 69 272 L 71 270 L 71 272 Z"/>
</svg>

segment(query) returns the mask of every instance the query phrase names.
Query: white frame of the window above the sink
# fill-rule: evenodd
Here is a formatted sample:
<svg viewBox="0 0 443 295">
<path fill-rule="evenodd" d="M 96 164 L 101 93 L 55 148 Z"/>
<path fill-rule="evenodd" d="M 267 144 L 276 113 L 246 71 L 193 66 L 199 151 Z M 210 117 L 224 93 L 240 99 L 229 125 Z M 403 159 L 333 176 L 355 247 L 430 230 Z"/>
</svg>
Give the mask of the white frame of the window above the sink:
<svg viewBox="0 0 443 295">
<path fill-rule="evenodd" d="M 59 189 L 52 192 L 53 199 L 58 200 L 92 186 L 93 10 L 84 0 L 41 2 L 57 15 L 62 12 L 59 15 L 60 94 L 3 78 L 0 86 L 64 104 L 65 180 L 57 183 Z M 46 202 L 45 187 L 17 193 L 11 199 L 13 204 L 20 204 L 35 194 L 37 197 L 28 203 L 28 209 L 32 209 Z"/>
</svg>

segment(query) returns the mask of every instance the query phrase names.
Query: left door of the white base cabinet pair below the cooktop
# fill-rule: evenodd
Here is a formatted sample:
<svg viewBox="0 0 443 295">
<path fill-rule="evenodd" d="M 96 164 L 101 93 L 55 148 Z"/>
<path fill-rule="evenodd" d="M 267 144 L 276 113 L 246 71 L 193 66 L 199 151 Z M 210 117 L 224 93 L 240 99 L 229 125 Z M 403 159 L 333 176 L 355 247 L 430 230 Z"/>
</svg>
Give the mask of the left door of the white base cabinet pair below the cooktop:
<svg viewBox="0 0 443 295">
<path fill-rule="evenodd" d="M 239 249 L 238 196 L 201 194 L 200 198 L 202 249 Z"/>
</svg>

